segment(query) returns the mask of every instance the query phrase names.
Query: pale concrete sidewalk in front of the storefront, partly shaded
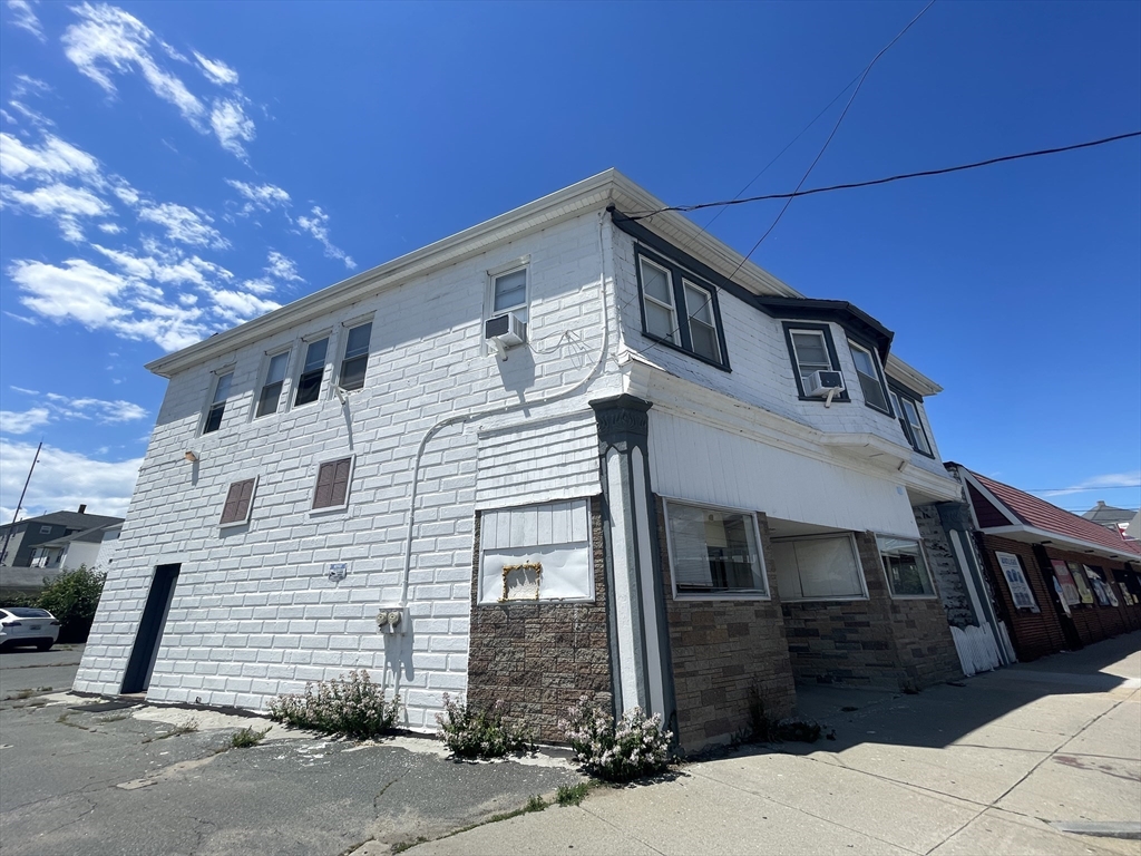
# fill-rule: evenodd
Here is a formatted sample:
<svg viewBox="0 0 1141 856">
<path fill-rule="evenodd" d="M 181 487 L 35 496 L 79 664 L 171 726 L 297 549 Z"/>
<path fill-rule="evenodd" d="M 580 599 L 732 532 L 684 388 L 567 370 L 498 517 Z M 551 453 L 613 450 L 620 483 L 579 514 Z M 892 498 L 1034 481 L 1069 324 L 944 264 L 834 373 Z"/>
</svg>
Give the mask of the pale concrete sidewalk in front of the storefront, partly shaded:
<svg viewBox="0 0 1141 856">
<path fill-rule="evenodd" d="M 444 854 L 1133 854 L 1052 822 L 1141 823 L 1141 632 L 920 695 L 801 693 L 835 728 L 421 845 Z"/>
</svg>

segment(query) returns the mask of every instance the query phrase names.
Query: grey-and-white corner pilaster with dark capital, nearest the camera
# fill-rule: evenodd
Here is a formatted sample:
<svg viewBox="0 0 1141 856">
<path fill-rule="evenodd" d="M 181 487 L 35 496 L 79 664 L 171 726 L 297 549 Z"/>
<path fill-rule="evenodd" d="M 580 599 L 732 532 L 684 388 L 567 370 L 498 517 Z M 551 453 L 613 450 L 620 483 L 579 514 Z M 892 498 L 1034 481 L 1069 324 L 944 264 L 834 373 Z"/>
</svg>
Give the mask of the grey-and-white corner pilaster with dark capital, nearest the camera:
<svg viewBox="0 0 1141 856">
<path fill-rule="evenodd" d="M 593 401 L 602 476 L 616 713 L 633 706 L 675 727 L 673 668 L 662 587 L 657 515 L 649 477 L 649 402 Z"/>
</svg>

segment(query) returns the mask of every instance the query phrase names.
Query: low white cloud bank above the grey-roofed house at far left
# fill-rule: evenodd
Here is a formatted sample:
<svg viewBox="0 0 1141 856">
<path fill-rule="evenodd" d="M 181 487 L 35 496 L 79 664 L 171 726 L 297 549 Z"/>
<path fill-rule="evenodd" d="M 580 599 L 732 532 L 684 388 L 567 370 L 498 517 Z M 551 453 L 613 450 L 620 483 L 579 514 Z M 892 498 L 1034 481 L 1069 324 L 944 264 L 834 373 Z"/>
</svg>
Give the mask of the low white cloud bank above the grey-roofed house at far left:
<svg viewBox="0 0 1141 856">
<path fill-rule="evenodd" d="M 35 454 L 35 444 L 0 439 L 0 514 L 10 520 Z M 24 516 L 72 510 L 123 516 L 141 458 L 106 461 L 44 445 L 24 498 Z"/>
</svg>

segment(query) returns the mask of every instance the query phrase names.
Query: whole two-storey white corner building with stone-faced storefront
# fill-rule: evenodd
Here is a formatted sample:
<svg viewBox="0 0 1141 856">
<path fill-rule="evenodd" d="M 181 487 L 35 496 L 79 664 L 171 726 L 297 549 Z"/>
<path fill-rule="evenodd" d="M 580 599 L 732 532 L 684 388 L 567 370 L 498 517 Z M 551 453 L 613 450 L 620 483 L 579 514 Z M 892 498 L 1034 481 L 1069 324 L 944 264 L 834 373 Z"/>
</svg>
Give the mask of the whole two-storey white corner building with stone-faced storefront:
<svg viewBox="0 0 1141 856">
<path fill-rule="evenodd" d="M 662 207 L 604 172 L 152 363 L 75 688 L 366 668 L 416 730 L 446 692 L 559 740 L 589 693 L 698 749 L 796 681 L 961 676 L 940 388 Z"/>
</svg>

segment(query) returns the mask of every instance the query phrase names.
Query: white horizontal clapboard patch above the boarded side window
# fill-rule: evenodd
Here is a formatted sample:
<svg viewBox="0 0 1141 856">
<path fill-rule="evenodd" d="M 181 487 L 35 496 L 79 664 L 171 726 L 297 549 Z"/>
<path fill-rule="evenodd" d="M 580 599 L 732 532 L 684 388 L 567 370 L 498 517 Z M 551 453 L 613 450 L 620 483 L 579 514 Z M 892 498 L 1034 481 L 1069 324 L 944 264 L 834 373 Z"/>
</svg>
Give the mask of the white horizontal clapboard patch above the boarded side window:
<svg viewBox="0 0 1141 856">
<path fill-rule="evenodd" d="M 477 508 L 593 496 L 598 478 L 592 412 L 479 435 Z"/>
</svg>

